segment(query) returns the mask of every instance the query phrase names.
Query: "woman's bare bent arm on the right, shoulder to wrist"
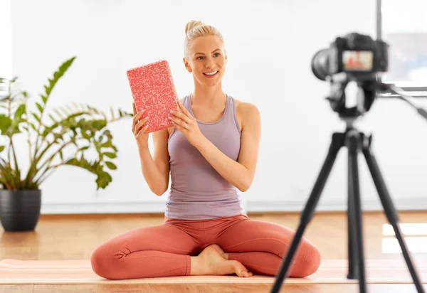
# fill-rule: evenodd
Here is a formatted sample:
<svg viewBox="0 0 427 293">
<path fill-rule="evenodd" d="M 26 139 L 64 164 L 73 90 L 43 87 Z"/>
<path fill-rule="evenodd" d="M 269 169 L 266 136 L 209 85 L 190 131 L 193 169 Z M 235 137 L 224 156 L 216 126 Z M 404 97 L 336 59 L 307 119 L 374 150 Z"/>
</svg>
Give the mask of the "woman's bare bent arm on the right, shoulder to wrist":
<svg viewBox="0 0 427 293">
<path fill-rule="evenodd" d="M 241 149 L 237 161 L 223 154 L 206 137 L 202 137 L 194 146 L 218 174 L 244 192 L 251 187 L 255 176 L 260 146 L 261 119 L 260 112 L 255 105 L 242 102 L 238 107 L 240 108 L 238 112 L 241 112 L 242 129 Z"/>
</svg>

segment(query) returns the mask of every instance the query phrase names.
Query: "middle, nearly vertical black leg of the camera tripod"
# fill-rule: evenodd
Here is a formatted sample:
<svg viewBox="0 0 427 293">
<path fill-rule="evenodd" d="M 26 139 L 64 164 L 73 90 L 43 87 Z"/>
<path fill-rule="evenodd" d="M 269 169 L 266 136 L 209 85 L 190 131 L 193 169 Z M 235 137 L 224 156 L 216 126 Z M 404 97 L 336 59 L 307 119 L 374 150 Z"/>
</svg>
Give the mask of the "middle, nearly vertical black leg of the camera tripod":
<svg viewBox="0 0 427 293">
<path fill-rule="evenodd" d="M 362 137 L 359 132 L 349 132 L 347 141 L 347 149 L 349 151 L 349 215 L 351 215 L 349 234 L 352 235 L 351 245 L 354 250 L 352 256 L 357 260 L 357 271 L 359 277 L 359 292 L 367 292 L 367 282 L 364 266 L 364 248 L 363 248 L 363 224 L 362 224 L 362 205 L 360 203 L 359 189 L 359 168 L 357 164 L 357 156 L 359 149 L 362 149 Z M 353 263 L 354 265 L 354 263 Z"/>
</svg>

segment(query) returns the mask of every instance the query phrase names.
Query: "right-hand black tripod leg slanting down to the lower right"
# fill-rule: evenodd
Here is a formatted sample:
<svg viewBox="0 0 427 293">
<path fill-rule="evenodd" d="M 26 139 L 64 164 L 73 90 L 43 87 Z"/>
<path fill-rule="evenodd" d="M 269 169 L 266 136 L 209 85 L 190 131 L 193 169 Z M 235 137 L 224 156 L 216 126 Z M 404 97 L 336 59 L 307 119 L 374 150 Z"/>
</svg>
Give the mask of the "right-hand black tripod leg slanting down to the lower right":
<svg viewBox="0 0 427 293">
<path fill-rule="evenodd" d="M 382 206 L 384 207 L 386 217 L 389 220 L 391 226 L 393 227 L 394 233 L 396 234 L 396 238 L 399 241 L 402 254 L 404 255 L 408 270 L 411 273 L 411 277 L 413 279 L 413 283 L 415 284 L 416 290 L 418 293 L 424 292 L 420 278 L 418 277 L 415 267 L 413 266 L 411 255 L 409 255 L 408 247 L 406 246 L 406 242 L 401 233 L 401 229 L 399 226 L 399 216 L 397 215 L 396 208 L 394 208 L 393 202 L 391 201 L 389 191 L 387 190 L 386 183 L 384 182 L 383 176 L 381 175 L 381 171 L 379 170 L 379 166 L 376 162 L 373 151 L 371 150 L 370 144 L 371 142 L 369 138 L 369 143 L 363 148 L 363 154 L 365 159 L 367 160 L 367 165 L 369 171 L 371 172 L 372 179 L 374 180 L 376 191 L 378 191 L 379 199 L 381 200 Z"/>
</svg>

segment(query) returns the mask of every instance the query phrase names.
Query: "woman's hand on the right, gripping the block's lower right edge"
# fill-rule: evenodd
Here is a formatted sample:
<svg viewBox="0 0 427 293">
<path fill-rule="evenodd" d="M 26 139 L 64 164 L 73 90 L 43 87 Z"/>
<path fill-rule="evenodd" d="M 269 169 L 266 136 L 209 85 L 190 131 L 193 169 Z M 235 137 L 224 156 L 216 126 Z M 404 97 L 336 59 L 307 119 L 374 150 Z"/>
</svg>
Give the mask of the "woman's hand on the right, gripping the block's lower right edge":
<svg viewBox="0 0 427 293">
<path fill-rule="evenodd" d="M 176 129 L 184 134 L 190 144 L 196 146 L 204 138 L 204 135 L 199 129 L 196 118 L 191 116 L 189 111 L 186 110 L 181 102 L 178 102 L 178 105 L 181 112 L 173 111 L 169 116 L 169 119 L 172 121 Z"/>
</svg>

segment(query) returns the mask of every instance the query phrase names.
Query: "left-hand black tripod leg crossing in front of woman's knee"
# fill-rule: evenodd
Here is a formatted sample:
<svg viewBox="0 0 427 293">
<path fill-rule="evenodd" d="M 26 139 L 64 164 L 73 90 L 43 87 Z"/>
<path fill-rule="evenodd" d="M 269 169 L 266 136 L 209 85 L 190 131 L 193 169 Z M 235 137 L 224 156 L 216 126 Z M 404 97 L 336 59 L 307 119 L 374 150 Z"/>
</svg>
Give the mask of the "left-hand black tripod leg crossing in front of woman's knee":
<svg viewBox="0 0 427 293">
<path fill-rule="evenodd" d="M 335 159 L 337 159 L 338 151 L 343 146 L 343 144 L 344 134 L 332 134 L 332 142 L 330 144 L 330 148 L 327 153 L 325 162 L 322 165 L 322 169 L 320 170 L 319 176 L 317 176 L 315 186 L 312 188 L 312 192 L 310 194 L 310 197 L 308 198 L 307 204 L 301 213 L 300 225 L 297 228 L 297 232 L 295 233 L 285 260 L 283 260 L 282 267 L 280 268 L 280 272 L 276 277 L 276 281 L 271 292 L 280 292 L 280 287 L 282 287 L 283 280 L 288 275 L 289 267 L 292 263 L 293 257 L 295 256 L 297 247 L 298 245 L 300 245 L 302 235 L 304 234 L 307 224 L 310 223 L 310 220 L 312 219 L 312 216 L 315 213 L 315 208 L 319 201 L 320 195 L 323 191 L 323 188 L 325 187 L 325 183 L 330 175 L 330 171 L 332 170 L 332 166 L 334 165 Z"/>
</svg>

